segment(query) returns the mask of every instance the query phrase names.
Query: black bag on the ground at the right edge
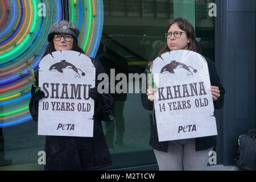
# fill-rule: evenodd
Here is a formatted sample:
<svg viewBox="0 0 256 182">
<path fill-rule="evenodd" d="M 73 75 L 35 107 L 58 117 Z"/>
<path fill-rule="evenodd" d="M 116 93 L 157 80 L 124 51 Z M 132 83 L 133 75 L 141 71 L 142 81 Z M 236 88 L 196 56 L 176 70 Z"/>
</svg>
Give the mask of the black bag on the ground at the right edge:
<svg viewBox="0 0 256 182">
<path fill-rule="evenodd" d="M 240 155 L 234 159 L 236 167 L 245 170 L 256 170 L 256 134 L 240 135 L 238 138 L 238 153 Z"/>
</svg>

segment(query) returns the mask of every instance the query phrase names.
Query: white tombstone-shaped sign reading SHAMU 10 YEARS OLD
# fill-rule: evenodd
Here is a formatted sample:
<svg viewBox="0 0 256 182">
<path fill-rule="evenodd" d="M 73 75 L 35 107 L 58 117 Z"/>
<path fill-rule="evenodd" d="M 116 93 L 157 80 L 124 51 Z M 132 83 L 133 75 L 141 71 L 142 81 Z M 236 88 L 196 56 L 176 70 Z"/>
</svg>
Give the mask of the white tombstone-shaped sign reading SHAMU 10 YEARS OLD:
<svg viewBox="0 0 256 182">
<path fill-rule="evenodd" d="M 39 64 L 38 135 L 93 137 L 96 70 L 92 60 L 76 51 L 56 51 Z"/>
</svg>

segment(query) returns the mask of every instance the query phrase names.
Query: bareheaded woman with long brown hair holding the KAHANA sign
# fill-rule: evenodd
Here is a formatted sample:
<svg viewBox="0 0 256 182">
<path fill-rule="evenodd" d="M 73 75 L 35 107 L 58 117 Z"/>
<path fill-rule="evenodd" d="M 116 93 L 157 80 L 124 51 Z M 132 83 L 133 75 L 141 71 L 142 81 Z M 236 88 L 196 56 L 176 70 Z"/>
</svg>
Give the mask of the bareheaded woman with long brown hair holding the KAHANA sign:
<svg viewBox="0 0 256 182">
<path fill-rule="evenodd" d="M 171 19 L 166 30 L 166 44 L 159 55 L 179 49 L 201 53 L 196 41 L 195 31 L 191 23 L 184 18 Z M 225 90 L 217 75 L 214 63 L 205 57 L 208 64 L 211 92 L 214 109 L 220 109 L 224 103 Z M 150 69 L 147 67 L 146 69 Z M 147 110 L 153 110 L 154 92 L 149 86 L 147 93 L 141 94 L 142 105 Z M 205 170 L 208 164 L 209 152 L 216 145 L 216 136 L 200 137 L 182 140 L 159 142 L 156 130 L 155 113 L 151 117 L 150 146 L 154 149 L 160 170 Z"/>
</svg>

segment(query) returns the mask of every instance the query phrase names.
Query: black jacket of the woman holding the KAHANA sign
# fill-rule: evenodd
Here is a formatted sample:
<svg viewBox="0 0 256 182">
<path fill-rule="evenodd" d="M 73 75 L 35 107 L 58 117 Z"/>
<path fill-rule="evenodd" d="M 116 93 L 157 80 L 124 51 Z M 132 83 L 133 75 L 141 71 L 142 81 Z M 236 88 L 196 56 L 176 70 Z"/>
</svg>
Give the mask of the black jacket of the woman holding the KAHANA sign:
<svg viewBox="0 0 256 182">
<path fill-rule="evenodd" d="M 217 101 L 213 102 L 214 109 L 221 109 L 221 107 L 224 104 L 225 90 L 221 84 L 220 78 L 217 75 L 217 71 L 214 66 L 214 63 L 211 60 L 209 60 L 207 57 L 205 57 L 205 59 L 207 60 L 207 64 L 208 64 L 208 70 L 209 70 L 209 75 L 210 75 L 210 84 L 212 86 L 218 86 L 218 88 L 220 89 L 220 97 L 218 98 Z M 150 70 L 150 67 L 147 66 L 146 69 Z M 146 71 L 145 71 L 145 73 L 146 73 Z M 151 102 L 150 100 L 147 99 L 146 93 L 141 94 L 141 100 L 142 100 L 142 105 L 145 109 L 153 110 L 153 102 Z M 151 135 L 150 135 L 150 143 L 149 143 L 150 146 L 152 148 L 154 148 L 155 150 L 168 152 L 168 141 L 159 142 L 159 139 L 158 139 L 158 131 L 156 129 L 155 111 L 154 111 L 154 124 L 153 124 L 153 120 L 152 120 L 153 119 L 152 114 L 151 114 L 150 118 L 151 118 Z M 216 144 L 217 144 L 216 136 L 196 138 L 196 151 L 206 150 L 210 147 L 215 146 Z"/>
</svg>

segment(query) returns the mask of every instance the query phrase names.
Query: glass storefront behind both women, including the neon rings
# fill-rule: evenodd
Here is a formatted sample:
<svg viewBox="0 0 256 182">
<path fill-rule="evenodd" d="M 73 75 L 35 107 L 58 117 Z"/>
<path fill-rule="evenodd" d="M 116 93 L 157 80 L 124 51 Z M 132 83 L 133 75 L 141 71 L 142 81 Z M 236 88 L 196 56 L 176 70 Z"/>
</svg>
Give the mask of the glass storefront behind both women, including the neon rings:
<svg viewBox="0 0 256 182">
<path fill-rule="evenodd" d="M 24 62 L 38 68 L 53 22 L 65 17 L 74 22 L 81 31 L 79 46 L 86 55 L 99 59 L 107 73 L 115 69 L 115 75 L 141 74 L 164 46 L 168 20 L 179 16 L 193 24 L 202 55 L 214 61 L 214 19 L 208 15 L 212 2 L 1 1 L 0 170 L 43 170 L 39 163 L 45 137 L 37 134 L 37 123 L 28 111 L 31 82 L 26 81 Z M 104 169 L 156 164 L 148 145 L 152 111 L 142 107 L 140 93 L 141 89 L 115 94 L 115 120 L 102 122 L 113 160 Z"/>
</svg>

